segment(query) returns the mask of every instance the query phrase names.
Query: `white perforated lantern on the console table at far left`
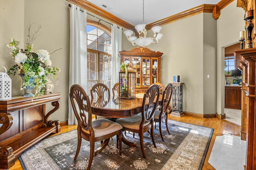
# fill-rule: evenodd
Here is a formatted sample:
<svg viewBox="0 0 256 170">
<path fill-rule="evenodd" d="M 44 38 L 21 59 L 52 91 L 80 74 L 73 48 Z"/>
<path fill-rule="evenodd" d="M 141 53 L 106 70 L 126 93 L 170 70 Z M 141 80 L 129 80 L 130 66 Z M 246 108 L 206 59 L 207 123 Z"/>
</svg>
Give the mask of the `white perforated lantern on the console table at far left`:
<svg viewBox="0 0 256 170">
<path fill-rule="evenodd" d="M 4 66 L 2 66 L 4 67 Z M 5 72 L 0 72 L 0 100 L 12 99 L 12 79 Z"/>
</svg>

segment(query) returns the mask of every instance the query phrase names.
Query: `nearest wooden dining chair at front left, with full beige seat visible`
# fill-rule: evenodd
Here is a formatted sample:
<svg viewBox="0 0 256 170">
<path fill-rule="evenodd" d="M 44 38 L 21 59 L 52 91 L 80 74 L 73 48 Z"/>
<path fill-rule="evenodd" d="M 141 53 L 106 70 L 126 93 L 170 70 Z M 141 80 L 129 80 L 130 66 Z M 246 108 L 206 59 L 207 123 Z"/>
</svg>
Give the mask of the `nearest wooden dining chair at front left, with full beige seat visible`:
<svg viewBox="0 0 256 170">
<path fill-rule="evenodd" d="M 76 155 L 74 160 L 78 157 L 82 138 L 86 141 L 90 142 L 90 158 L 87 170 L 90 169 L 92 165 L 92 159 L 94 154 L 98 154 L 102 151 L 107 145 L 110 140 L 110 137 L 116 135 L 117 143 L 116 147 L 119 147 L 119 154 L 122 155 L 122 125 L 110 121 L 108 119 L 97 119 L 92 121 L 92 108 L 90 105 L 89 96 L 87 96 L 84 89 L 78 85 L 74 84 L 70 88 L 70 100 L 72 104 L 72 108 L 74 110 L 74 114 L 78 121 L 77 126 L 77 134 L 78 134 L 78 141 L 77 141 L 77 148 L 76 148 Z M 102 145 L 94 150 L 95 142 L 102 141 Z M 119 146 L 118 146 L 119 142 Z"/>
</svg>

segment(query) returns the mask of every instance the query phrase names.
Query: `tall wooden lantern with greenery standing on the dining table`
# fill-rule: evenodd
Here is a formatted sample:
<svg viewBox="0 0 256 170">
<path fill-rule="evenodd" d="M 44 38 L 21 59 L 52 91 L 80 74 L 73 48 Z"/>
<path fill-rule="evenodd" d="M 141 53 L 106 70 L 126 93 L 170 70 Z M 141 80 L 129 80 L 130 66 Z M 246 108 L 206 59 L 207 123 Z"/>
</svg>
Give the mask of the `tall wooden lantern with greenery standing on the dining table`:
<svg viewBox="0 0 256 170">
<path fill-rule="evenodd" d="M 120 86 L 120 98 L 130 99 L 136 98 L 135 90 L 136 90 L 136 70 L 128 67 L 127 75 L 126 70 L 120 70 L 119 72 L 119 86 Z"/>
</svg>

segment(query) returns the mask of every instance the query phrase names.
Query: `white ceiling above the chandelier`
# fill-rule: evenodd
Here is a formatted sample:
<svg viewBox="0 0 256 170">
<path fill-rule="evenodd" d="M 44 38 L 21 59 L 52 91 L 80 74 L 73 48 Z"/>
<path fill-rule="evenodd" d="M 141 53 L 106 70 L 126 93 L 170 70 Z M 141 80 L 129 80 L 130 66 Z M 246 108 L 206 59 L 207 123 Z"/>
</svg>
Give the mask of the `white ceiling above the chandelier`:
<svg viewBox="0 0 256 170">
<path fill-rule="evenodd" d="M 143 23 L 142 0 L 87 0 L 114 16 L 132 24 Z M 202 4 L 217 4 L 220 0 L 144 0 L 144 23 L 149 24 Z M 104 4 L 107 6 L 104 8 Z"/>
</svg>

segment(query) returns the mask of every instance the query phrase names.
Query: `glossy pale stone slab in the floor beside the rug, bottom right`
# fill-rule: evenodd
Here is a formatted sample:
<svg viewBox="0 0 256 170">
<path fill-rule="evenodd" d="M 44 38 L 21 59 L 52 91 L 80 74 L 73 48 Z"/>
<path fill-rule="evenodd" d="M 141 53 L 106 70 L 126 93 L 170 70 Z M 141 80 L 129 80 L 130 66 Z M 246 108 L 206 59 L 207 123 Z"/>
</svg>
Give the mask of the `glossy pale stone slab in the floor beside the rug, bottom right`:
<svg viewBox="0 0 256 170">
<path fill-rule="evenodd" d="M 230 134 L 217 136 L 208 162 L 216 170 L 244 170 L 246 141 Z"/>
</svg>

